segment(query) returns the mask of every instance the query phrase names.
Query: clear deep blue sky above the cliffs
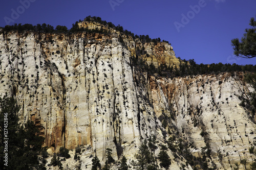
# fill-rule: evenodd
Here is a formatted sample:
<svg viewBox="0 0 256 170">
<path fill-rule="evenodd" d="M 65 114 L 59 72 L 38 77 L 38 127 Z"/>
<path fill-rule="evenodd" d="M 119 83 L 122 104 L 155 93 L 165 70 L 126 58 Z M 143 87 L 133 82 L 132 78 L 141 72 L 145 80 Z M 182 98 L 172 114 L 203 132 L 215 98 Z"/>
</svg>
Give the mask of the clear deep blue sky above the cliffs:
<svg viewBox="0 0 256 170">
<path fill-rule="evenodd" d="M 191 6 L 200 9 L 195 7 L 194 12 Z M 256 64 L 256 58 L 234 57 L 230 42 L 243 36 L 255 14 L 255 0 L 10 0 L 1 2 L 0 27 L 45 22 L 70 29 L 79 19 L 99 16 L 135 34 L 169 41 L 181 59 L 204 64 Z"/>
</svg>

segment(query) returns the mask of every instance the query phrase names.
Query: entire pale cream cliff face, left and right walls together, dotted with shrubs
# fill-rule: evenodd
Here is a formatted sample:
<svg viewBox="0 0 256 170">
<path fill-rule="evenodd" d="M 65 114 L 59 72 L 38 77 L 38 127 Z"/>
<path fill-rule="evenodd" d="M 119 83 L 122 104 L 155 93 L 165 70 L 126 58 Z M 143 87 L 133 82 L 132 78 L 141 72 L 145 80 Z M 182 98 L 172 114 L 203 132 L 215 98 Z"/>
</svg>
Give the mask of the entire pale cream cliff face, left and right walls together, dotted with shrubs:
<svg viewBox="0 0 256 170">
<path fill-rule="evenodd" d="M 211 162 L 219 169 L 231 169 L 244 158 L 252 160 L 248 149 L 256 137 L 255 124 L 239 106 L 239 95 L 252 88 L 243 84 L 242 75 L 172 80 L 148 76 L 132 65 L 136 47 L 144 47 L 150 56 L 147 63 L 156 66 L 179 62 L 172 47 L 142 44 L 124 35 L 121 43 L 119 36 L 0 33 L 0 93 L 17 99 L 22 123 L 32 120 L 40 126 L 49 152 L 82 145 L 82 169 L 91 168 L 91 155 L 103 164 L 106 148 L 113 150 L 115 160 L 125 155 L 131 161 L 143 138 L 155 135 L 158 146 L 166 144 L 169 127 L 193 142 L 190 151 L 195 156 L 208 141 Z M 163 115 L 169 118 L 166 129 Z M 202 131 L 207 135 L 201 136 Z M 158 148 L 156 155 L 159 152 Z M 182 156 L 168 154 L 169 169 L 186 164 Z M 69 167 L 77 166 L 70 159 Z"/>
</svg>

